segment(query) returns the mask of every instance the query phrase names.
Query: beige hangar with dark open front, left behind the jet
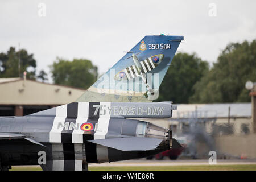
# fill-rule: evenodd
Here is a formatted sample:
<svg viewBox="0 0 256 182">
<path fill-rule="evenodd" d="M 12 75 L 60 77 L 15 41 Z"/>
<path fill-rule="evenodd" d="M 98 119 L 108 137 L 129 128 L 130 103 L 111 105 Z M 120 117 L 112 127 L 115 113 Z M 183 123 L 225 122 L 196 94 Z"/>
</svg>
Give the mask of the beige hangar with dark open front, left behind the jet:
<svg viewBox="0 0 256 182">
<path fill-rule="evenodd" d="M 76 101 L 84 92 L 26 78 L 0 78 L 0 116 L 36 113 Z"/>
</svg>

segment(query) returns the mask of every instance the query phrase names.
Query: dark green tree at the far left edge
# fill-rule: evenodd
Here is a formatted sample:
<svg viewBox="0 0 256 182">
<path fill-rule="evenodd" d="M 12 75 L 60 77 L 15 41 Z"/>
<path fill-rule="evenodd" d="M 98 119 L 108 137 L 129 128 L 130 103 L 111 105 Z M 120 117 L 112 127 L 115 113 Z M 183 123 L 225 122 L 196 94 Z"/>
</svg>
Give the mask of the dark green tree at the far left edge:
<svg viewBox="0 0 256 182">
<path fill-rule="evenodd" d="M 7 53 L 0 53 L 0 77 L 2 78 L 22 77 L 23 72 L 26 71 L 27 78 L 34 80 L 35 69 L 36 60 L 33 54 L 28 54 L 25 49 L 15 51 L 14 47 L 10 47 Z"/>
</svg>

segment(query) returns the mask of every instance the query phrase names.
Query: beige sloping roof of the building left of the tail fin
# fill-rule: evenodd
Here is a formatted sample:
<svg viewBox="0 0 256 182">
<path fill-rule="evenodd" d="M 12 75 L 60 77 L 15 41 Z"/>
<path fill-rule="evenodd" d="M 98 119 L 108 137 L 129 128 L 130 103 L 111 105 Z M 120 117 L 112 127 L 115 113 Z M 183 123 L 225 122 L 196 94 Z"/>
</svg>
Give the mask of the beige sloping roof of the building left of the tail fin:
<svg viewBox="0 0 256 182">
<path fill-rule="evenodd" d="M 62 105 L 74 102 L 84 92 L 23 78 L 0 78 L 0 105 Z"/>
</svg>

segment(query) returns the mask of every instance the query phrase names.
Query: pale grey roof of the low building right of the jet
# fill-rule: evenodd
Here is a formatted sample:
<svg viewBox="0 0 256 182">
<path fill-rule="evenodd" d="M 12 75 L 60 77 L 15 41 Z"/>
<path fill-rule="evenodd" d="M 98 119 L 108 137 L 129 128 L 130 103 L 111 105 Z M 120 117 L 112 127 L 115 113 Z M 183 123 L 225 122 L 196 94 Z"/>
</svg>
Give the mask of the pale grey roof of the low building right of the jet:
<svg viewBox="0 0 256 182">
<path fill-rule="evenodd" d="M 173 111 L 172 118 L 241 118 L 251 117 L 251 103 L 220 103 L 220 104 L 177 104 L 177 110 Z"/>
</svg>

